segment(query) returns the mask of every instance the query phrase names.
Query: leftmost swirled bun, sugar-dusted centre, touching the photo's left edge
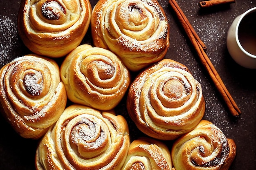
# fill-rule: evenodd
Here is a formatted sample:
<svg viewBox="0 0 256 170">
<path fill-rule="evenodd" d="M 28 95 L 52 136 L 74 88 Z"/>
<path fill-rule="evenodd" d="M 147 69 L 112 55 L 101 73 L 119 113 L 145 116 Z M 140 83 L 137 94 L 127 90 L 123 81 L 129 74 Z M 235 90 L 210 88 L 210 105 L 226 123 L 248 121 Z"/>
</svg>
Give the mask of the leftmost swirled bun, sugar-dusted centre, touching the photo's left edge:
<svg viewBox="0 0 256 170">
<path fill-rule="evenodd" d="M 24 138 L 43 136 L 65 109 L 67 95 L 53 60 L 25 55 L 0 70 L 4 117 Z"/>
</svg>

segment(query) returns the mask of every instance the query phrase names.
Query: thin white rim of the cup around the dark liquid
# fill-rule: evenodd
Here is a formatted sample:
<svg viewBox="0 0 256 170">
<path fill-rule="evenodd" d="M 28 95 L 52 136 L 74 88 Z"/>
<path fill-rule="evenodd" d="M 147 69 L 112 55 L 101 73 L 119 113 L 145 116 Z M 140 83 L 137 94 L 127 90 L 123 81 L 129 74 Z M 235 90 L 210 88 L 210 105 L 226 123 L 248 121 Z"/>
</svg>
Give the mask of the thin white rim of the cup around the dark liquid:
<svg viewBox="0 0 256 170">
<path fill-rule="evenodd" d="M 256 12 L 256 7 L 253 7 L 253 8 L 251 8 L 251 9 L 248 9 L 248 10 L 245 11 L 243 14 L 241 14 L 241 16 L 240 16 L 240 18 L 239 18 L 239 20 L 238 20 L 238 23 L 236 24 L 236 42 L 237 42 L 239 48 L 243 51 L 243 53 L 245 53 L 245 54 L 248 55 L 249 57 L 256 58 L 256 55 L 253 55 L 253 54 L 247 52 L 247 51 L 243 48 L 243 46 L 240 44 L 240 41 L 239 41 L 239 39 L 238 39 L 238 28 L 239 28 L 239 26 L 240 26 L 240 22 L 243 20 L 243 18 L 245 18 L 246 15 L 248 15 L 248 14 L 251 13 L 251 12 Z"/>
</svg>

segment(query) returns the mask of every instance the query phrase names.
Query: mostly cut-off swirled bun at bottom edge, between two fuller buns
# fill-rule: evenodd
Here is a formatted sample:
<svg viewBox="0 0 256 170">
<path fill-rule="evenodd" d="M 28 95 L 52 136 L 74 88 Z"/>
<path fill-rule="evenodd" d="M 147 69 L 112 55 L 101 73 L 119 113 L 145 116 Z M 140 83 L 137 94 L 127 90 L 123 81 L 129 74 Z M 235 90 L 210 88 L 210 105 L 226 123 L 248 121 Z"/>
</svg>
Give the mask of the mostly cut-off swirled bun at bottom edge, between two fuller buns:
<svg viewBox="0 0 256 170">
<path fill-rule="evenodd" d="M 168 147 L 151 138 L 132 141 L 121 170 L 172 170 Z"/>
</svg>

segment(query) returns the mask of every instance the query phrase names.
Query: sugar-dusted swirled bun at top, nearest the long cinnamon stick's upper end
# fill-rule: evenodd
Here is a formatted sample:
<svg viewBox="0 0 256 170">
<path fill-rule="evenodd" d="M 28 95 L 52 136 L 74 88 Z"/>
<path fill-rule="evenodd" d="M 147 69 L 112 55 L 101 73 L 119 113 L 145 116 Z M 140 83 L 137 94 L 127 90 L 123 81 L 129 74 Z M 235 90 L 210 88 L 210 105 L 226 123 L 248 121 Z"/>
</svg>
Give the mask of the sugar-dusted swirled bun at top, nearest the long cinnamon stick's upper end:
<svg viewBox="0 0 256 170">
<path fill-rule="evenodd" d="M 92 11 L 94 46 L 116 53 L 131 71 L 161 60 L 169 25 L 157 0 L 99 0 Z"/>
</svg>

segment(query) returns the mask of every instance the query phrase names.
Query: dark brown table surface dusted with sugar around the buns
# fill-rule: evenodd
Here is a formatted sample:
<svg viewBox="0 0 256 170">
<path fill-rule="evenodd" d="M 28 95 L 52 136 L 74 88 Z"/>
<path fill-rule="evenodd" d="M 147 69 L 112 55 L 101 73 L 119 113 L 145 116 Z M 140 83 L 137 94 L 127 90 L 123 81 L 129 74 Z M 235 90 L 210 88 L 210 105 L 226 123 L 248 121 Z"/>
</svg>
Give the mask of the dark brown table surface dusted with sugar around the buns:
<svg viewBox="0 0 256 170">
<path fill-rule="evenodd" d="M 97 1 L 90 0 L 92 7 Z M 241 13 L 256 7 L 256 0 L 236 0 L 209 9 L 200 9 L 200 0 L 177 0 L 188 20 L 207 46 L 207 55 L 220 74 L 224 84 L 242 111 L 233 117 L 209 75 L 198 59 L 168 0 L 159 0 L 170 24 L 170 48 L 166 58 L 186 65 L 203 90 L 206 110 L 203 119 L 218 126 L 224 134 L 234 139 L 237 155 L 229 170 L 254 170 L 256 168 L 256 69 L 239 66 L 230 57 L 226 47 L 229 26 Z M 0 1 L 0 68 L 14 58 L 31 53 L 22 43 L 17 31 L 17 13 L 20 0 Z M 255 19 L 256 22 L 256 19 Z M 90 29 L 82 44 L 92 44 Z M 61 59 L 59 59 L 61 62 Z M 142 134 L 127 116 L 124 98 L 116 113 L 124 115 L 130 126 L 131 140 Z M 0 170 L 34 170 L 34 156 L 38 140 L 23 139 L 0 115 Z M 166 141 L 171 147 L 172 141 Z"/>
</svg>

